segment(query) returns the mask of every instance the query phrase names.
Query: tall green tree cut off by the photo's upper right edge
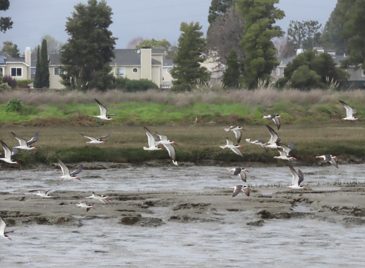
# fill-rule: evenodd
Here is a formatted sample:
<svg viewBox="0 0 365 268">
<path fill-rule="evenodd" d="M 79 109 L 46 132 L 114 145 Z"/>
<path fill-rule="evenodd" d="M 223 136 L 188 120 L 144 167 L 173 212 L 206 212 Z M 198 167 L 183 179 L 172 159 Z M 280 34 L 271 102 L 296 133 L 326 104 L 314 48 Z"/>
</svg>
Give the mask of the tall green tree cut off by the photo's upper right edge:
<svg viewBox="0 0 365 268">
<path fill-rule="evenodd" d="M 341 35 L 347 39 L 349 58 L 342 61 L 341 66 L 359 66 L 365 74 L 365 2 L 364 0 L 338 1 L 339 15 L 343 22 Z M 336 6 L 337 7 L 337 6 Z"/>
</svg>

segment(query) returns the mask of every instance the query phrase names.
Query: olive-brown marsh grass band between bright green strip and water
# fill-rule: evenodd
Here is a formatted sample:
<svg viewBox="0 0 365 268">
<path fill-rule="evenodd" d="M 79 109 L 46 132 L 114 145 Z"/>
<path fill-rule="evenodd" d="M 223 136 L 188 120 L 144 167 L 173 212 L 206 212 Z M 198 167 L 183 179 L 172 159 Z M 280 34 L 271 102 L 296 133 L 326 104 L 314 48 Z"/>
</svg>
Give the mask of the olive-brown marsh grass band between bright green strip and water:
<svg viewBox="0 0 365 268">
<path fill-rule="evenodd" d="M 283 125 L 277 131 L 282 142 L 292 142 L 296 146 L 295 156 L 301 165 L 311 165 L 321 162 L 315 156 L 332 154 L 338 157 L 339 164 L 346 161 L 364 161 L 365 140 L 364 126 L 354 122 L 339 122 L 325 124 L 295 124 Z M 361 123 L 361 122 L 360 122 Z M 245 126 L 243 131 L 241 150 L 243 157 L 230 149 L 221 149 L 219 145 L 226 144 L 226 137 L 235 141 L 232 133 L 224 131 L 226 125 L 210 126 L 197 123 L 195 126 L 150 126 L 151 132 L 168 135 L 175 141 L 178 162 L 200 163 L 203 159 L 224 162 L 265 162 L 277 165 L 287 165 L 286 160 L 277 160 L 276 149 L 266 152 L 261 146 L 245 141 L 246 138 L 268 141 L 270 134 L 265 125 Z M 39 133 L 39 140 L 35 143 L 37 151 L 19 151 L 16 156 L 21 163 L 54 163 L 56 154 L 65 163 L 70 162 L 131 162 L 139 163 L 154 159 L 169 159 L 168 152 L 145 151 L 147 137 L 142 126 L 50 126 L 50 127 L 19 127 L 3 126 L 0 129 L 0 139 L 9 147 L 18 145 L 10 133 L 15 132 L 20 137 L 30 139 L 35 132 Z M 89 141 L 82 134 L 101 137 L 108 132 L 112 135 L 105 139 L 105 145 L 89 145 Z"/>
</svg>

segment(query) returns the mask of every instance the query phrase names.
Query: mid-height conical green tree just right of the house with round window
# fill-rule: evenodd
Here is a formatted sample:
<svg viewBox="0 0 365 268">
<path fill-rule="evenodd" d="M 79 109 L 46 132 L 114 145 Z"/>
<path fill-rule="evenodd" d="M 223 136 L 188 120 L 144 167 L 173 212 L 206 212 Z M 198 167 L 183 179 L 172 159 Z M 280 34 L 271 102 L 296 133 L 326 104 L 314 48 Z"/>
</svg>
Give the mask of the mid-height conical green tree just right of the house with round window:
<svg viewBox="0 0 365 268">
<path fill-rule="evenodd" d="M 175 91 L 191 90 L 197 82 L 207 82 L 210 79 L 207 68 L 200 66 L 200 63 L 204 62 L 202 54 L 207 47 L 200 30 L 198 22 L 182 22 L 180 25 L 182 33 L 178 39 L 176 56 L 173 58 L 176 67 L 171 69 Z"/>
</svg>

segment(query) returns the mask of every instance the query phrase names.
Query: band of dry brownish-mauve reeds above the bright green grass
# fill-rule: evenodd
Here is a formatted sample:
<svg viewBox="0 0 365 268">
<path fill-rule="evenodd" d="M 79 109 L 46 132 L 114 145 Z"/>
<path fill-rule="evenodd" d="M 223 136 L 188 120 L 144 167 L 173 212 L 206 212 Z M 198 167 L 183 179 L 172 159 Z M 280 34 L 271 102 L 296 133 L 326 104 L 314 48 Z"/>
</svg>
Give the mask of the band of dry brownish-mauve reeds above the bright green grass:
<svg viewBox="0 0 365 268">
<path fill-rule="evenodd" d="M 17 98 L 23 104 L 50 104 L 50 103 L 93 103 L 94 98 L 100 102 L 151 102 L 176 106 L 191 105 L 193 103 L 242 103 L 249 106 L 269 106 L 272 103 L 293 103 L 297 105 L 314 105 L 320 103 L 334 103 L 339 99 L 350 101 L 354 104 L 364 103 L 363 90 L 333 91 L 312 89 L 300 91 L 296 89 L 277 90 L 274 88 L 261 88 L 257 90 L 214 90 L 214 91 L 187 91 L 175 93 L 161 90 L 148 90 L 145 92 L 123 92 L 109 90 L 106 92 L 89 91 L 59 91 L 59 90 L 5 90 L 0 93 L 0 103 L 6 103 L 11 98 Z"/>
</svg>

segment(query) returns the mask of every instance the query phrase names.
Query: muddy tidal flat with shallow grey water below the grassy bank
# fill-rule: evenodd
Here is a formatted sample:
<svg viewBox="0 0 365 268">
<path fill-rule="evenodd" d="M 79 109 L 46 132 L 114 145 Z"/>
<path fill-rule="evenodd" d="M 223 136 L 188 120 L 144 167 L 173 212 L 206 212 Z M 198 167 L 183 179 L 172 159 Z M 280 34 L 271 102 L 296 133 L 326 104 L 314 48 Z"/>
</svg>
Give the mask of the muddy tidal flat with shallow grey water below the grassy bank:
<svg viewBox="0 0 365 268">
<path fill-rule="evenodd" d="M 0 170 L 0 267 L 362 267 L 365 165 L 247 164 L 250 196 L 226 166 Z M 298 167 L 295 167 L 297 169 Z M 28 193 L 52 189 L 53 198 Z M 77 208 L 94 191 L 111 204 Z M 341 256 L 339 258 L 339 256 Z"/>
</svg>

